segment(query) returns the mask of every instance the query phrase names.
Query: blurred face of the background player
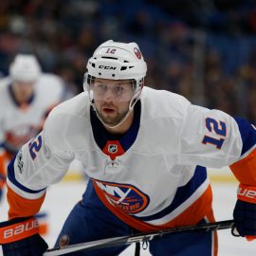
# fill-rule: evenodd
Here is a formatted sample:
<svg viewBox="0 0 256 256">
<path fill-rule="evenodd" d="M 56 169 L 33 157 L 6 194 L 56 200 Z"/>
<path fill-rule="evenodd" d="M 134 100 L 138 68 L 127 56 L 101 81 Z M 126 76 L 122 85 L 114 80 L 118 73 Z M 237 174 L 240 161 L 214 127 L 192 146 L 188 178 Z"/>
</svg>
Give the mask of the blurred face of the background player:
<svg viewBox="0 0 256 256">
<path fill-rule="evenodd" d="M 16 101 L 28 101 L 34 91 L 34 82 L 13 82 L 12 90 Z"/>
</svg>

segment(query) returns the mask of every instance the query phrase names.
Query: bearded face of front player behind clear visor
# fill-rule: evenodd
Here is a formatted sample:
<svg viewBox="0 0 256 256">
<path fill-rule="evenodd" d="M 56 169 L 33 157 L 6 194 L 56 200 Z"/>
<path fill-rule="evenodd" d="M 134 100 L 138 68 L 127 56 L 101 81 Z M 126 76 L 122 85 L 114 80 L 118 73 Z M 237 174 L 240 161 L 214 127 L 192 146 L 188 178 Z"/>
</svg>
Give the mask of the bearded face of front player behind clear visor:
<svg viewBox="0 0 256 256">
<path fill-rule="evenodd" d="M 129 103 L 134 96 L 133 83 L 130 80 L 95 79 L 91 90 L 103 122 L 118 124 L 129 110 Z"/>
</svg>

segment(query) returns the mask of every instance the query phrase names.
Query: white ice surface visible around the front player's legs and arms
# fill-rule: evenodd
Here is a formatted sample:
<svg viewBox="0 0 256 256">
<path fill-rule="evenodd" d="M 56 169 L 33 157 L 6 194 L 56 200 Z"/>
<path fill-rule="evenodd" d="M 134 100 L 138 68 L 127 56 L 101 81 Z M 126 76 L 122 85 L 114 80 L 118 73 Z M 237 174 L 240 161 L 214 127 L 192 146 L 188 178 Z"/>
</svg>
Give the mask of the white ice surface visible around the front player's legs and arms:
<svg viewBox="0 0 256 256">
<path fill-rule="evenodd" d="M 213 205 L 217 221 L 231 219 L 232 209 L 236 200 L 236 187 L 234 182 L 212 182 Z M 85 185 L 82 181 L 61 182 L 48 189 L 43 210 L 49 216 L 49 232 L 46 242 L 53 247 L 69 210 L 81 199 Z M 0 220 L 7 218 L 7 204 L 2 202 Z M 0 252 L 2 255 L 2 251 Z M 122 256 L 134 255 L 134 247 L 128 247 Z M 147 250 L 141 249 L 141 256 L 151 255 Z M 236 238 L 230 234 L 230 229 L 219 231 L 219 256 L 253 256 L 256 255 L 256 241 L 247 242 L 244 238 Z M 202 255 L 203 256 L 203 255 Z"/>
</svg>

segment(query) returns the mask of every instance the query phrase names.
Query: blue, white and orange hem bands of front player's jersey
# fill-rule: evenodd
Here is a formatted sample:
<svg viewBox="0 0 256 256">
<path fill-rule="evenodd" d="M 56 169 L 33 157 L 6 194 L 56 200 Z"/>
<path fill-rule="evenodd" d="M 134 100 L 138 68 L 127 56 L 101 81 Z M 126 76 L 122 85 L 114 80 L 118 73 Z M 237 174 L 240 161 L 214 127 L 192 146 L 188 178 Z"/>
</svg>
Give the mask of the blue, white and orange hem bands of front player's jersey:
<svg viewBox="0 0 256 256">
<path fill-rule="evenodd" d="M 203 167 L 198 166 L 190 182 L 178 188 L 170 206 L 144 217 L 129 214 L 114 206 L 97 185 L 96 180 L 92 182 L 101 202 L 119 219 L 141 231 L 192 225 L 198 223 L 204 217 L 213 219 L 212 194 L 206 169 Z"/>
</svg>

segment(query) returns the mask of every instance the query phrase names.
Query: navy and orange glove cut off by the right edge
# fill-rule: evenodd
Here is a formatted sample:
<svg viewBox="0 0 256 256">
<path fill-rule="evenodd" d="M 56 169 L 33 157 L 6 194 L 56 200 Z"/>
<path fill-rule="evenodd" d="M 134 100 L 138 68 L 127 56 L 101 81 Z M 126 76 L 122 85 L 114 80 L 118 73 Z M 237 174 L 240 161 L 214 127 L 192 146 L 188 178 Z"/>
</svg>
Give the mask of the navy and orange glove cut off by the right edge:
<svg viewBox="0 0 256 256">
<path fill-rule="evenodd" d="M 234 226 L 248 241 L 256 239 L 256 187 L 240 184 L 237 198 L 233 211 Z"/>
</svg>

